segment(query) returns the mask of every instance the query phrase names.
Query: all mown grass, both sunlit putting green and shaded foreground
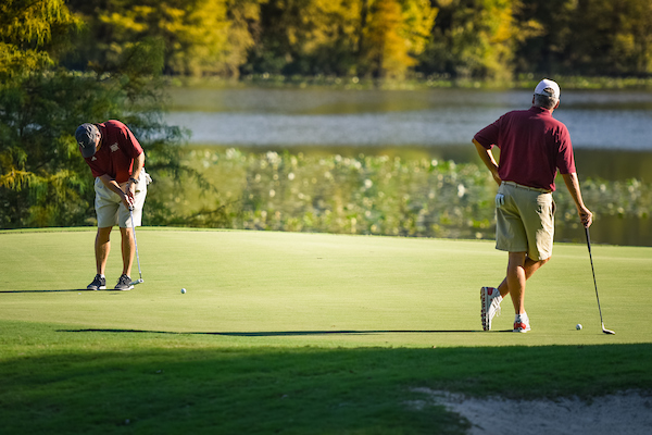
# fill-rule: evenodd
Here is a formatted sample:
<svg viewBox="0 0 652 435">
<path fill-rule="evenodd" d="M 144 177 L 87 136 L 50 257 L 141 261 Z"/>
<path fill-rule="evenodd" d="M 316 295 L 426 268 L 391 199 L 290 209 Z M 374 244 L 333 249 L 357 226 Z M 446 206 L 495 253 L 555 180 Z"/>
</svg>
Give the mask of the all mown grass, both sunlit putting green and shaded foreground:
<svg viewBox="0 0 652 435">
<path fill-rule="evenodd" d="M 93 229 L 0 232 L 4 433 L 462 433 L 468 423 L 442 407 L 411 406 L 427 399 L 413 388 L 652 389 L 651 248 L 593 247 L 615 336 L 601 332 L 586 245 L 565 244 L 528 283 L 532 331 L 513 334 L 500 332 L 509 299 L 497 331 L 479 331 L 479 287 L 497 285 L 506 260 L 491 241 L 137 236 L 145 284 L 118 293 L 79 289 Z"/>
</svg>

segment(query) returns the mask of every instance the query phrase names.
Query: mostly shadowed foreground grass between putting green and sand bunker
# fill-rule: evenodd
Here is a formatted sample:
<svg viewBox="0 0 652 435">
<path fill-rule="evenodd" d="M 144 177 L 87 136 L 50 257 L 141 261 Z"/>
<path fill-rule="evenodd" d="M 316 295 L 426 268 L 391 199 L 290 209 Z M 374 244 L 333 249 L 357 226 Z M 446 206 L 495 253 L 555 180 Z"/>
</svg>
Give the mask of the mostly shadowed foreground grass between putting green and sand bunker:
<svg viewBox="0 0 652 435">
<path fill-rule="evenodd" d="M 0 322 L 7 433 L 463 433 L 414 387 L 513 399 L 652 388 L 652 345 L 321 348 Z"/>
</svg>

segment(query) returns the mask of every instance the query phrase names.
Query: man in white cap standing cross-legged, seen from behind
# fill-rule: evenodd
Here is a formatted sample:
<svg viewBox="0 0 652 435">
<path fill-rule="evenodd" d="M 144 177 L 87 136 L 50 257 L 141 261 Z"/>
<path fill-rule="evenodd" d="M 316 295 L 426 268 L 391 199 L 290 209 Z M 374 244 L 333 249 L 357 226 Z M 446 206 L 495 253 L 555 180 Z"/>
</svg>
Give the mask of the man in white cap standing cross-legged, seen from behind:
<svg viewBox="0 0 652 435">
<path fill-rule="evenodd" d="M 592 213 L 581 199 L 568 129 L 552 117 L 559 105 L 559 85 L 543 79 L 535 88 L 529 110 L 507 112 L 473 138 L 480 159 L 500 186 L 496 196 L 496 249 L 509 252 L 506 277 L 498 288 L 480 289 L 485 331 L 491 330 L 491 320 L 507 294 L 516 314 L 514 332 L 530 331 L 525 283 L 552 256 L 552 192 L 557 169 L 582 225 L 588 228 L 592 222 Z M 500 148 L 500 164 L 491 152 L 493 146 Z"/>
</svg>

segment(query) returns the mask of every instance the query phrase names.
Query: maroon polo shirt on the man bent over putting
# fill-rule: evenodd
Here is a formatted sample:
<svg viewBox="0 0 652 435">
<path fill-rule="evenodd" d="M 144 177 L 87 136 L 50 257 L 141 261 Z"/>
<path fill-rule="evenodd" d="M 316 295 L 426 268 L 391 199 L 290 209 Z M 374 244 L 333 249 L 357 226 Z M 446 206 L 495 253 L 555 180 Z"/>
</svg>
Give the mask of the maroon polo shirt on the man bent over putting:
<svg viewBox="0 0 652 435">
<path fill-rule="evenodd" d="M 93 177 L 108 174 L 118 184 L 126 183 L 131 176 L 134 159 L 142 153 L 142 147 L 134 134 L 120 121 L 106 121 L 96 124 L 100 129 L 101 147 L 84 160 L 90 166 Z"/>
</svg>

